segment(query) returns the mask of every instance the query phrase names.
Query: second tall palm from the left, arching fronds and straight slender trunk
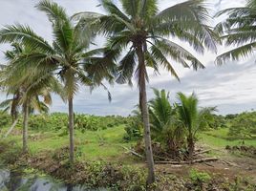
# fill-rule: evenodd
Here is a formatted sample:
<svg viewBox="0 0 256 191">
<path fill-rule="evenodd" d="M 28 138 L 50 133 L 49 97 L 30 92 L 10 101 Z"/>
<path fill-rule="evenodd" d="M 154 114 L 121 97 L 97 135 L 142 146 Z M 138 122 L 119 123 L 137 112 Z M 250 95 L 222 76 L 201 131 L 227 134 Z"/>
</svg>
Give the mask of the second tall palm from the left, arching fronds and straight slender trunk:
<svg viewBox="0 0 256 191">
<path fill-rule="evenodd" d="M 99 50 L 86 52 L 94 36 L 90 28 L 72 22 L 66 11 L 49 0 L 40 1 L 36 8 L 44 11 L 53 30 L 53 43 L 48 43 L 29 26 L 7 26 L 0 31 L 0 43 L 21 41 L 34 49 L 16 60 L 22 70 L 36 68 L 38 74 L 57 74 L 64 83 L 65 100 L 69 105 L 70 161 L 75 160 L 73 100 L 80 84 L 97 86 L 104 78 L 112 79 L 113 68 L 107 68 Z M 93 55 L 97 55 L 94 56 Z M 113 66 L 111 64 L 110 66 Z"/>
</svg>

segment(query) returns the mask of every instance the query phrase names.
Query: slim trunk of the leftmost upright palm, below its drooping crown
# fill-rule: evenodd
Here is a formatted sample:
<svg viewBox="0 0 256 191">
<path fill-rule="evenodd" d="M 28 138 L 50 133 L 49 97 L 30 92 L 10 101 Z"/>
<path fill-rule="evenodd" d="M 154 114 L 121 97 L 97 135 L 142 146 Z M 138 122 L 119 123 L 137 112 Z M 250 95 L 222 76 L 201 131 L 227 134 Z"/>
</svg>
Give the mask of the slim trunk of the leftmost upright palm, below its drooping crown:
<svg viewBox="0 0 256 191">
<path fill-rule="evenodd" d="M 23 105 L 23 153 L 28 153 L 28 122 L 29 122 L 29 104 L 26 101 Z"/>
</svg>

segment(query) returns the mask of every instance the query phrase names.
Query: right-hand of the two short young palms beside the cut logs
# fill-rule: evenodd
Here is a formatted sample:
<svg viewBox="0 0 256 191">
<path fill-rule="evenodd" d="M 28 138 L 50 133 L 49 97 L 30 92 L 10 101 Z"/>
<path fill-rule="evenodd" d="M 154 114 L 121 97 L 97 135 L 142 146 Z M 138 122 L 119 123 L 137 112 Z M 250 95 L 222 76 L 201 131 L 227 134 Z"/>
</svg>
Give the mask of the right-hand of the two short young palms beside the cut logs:
<svg viewBox="0 0 256 191">
<path fill-rule="evenodd" d="M 192 158 L 195 149 L 196 134 L 203 128 L 212 112 L 216 111 L 215 107 L 199 109 L 198 97 L 193 93 L 191 96 L 185 96 L 182 93 L 178 93 L 178 99 L 180 101 L 178 106 L 178 112 L 180 120 L 184 128 L 187 130 L 187 146 L 189 159 Z"/>
</svg>

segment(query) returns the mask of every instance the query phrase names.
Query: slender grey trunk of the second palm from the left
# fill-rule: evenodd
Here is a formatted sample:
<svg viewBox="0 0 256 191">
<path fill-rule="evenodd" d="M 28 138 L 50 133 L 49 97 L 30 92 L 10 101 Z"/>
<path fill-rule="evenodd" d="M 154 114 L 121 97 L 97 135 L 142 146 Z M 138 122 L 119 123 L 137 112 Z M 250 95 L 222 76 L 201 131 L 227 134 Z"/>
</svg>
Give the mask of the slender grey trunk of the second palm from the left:
<svg viewBox="0 0 256 191">
<path fill-rule="evenodd" d="M 69 99 L 69 130 L 70 130 L 70 162 L 74 163 L 75 146 L 74 146 L 74 110 L 73 98 Z"/>
</svg>

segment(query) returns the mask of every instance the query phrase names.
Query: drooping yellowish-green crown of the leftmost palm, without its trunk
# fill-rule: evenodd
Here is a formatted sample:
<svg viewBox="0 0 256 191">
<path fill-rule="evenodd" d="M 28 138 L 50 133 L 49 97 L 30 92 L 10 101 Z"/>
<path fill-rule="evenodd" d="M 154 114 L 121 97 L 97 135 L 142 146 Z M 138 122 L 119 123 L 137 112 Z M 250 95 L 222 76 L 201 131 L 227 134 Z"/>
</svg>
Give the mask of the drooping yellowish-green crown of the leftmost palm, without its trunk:
<svg viewBox="0 0 256 191">
<path fill-rule="evenodd" d="M 15 62 L 18 56 L 31 53 L 28 47 L 19 43 L 13 43 L 12 50 L 6 52 L 8 60 L 0 71 L 0 85 L 2 91 L 7 96 L 13 95 L 0 103 L 4 111 L 11 112 L 13 119 L 17 118 L 19 108 L 25 103 L 30 102 L 30 111 L 48 112 L 48 105 L 52 104 L 51 92 L 60 92 L 61 86 L 58 84 L 52 73 L 41 77 L 36 71 L 24 72 L 19 70 L 19 65 Z M 43 101 L 39 97 L 43 97 Z"/>
</svg>

